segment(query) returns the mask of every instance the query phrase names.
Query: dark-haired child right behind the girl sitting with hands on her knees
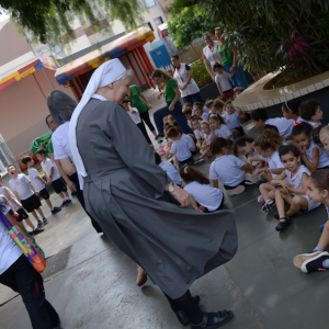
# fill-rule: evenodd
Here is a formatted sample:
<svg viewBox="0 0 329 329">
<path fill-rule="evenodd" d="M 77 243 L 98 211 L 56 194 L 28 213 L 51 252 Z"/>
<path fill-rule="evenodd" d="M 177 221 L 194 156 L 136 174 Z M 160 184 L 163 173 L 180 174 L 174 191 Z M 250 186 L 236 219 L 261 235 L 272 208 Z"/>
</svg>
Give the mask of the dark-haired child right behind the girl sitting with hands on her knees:
<svg viewBox="0 0 329 329">
<path fill-rule="evenodd" d="M 317 169 L 329 168 L 329 154 L 314 143 L 311 126 L 308 123 L 296 123 L 292 136 L 300 151 L 302 160 L 310 172 Z"/>
</svg>

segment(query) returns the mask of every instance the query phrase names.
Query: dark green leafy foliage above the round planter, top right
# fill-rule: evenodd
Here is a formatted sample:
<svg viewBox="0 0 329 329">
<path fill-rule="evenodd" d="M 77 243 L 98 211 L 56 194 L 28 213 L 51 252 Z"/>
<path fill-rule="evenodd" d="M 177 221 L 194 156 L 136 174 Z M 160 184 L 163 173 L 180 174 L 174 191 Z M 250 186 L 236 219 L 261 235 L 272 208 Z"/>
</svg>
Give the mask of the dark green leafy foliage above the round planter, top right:
<svg viewBox="0 0 329 329">
<path fill-rule="evenodd" d="M 171 11 L 184 5 L 189 8 L 186 13 L 194 7 L 220 26 L 229 44 L 237 45 L 247 68 L 259 71 L 284 68 L 279 84 L 329 69 L 329 0 L 173 0 Z M 307 56 L 299 56 L 298 45 L 291 44 L 297 52 L 294 54 L 297 61 L 286 56 L 285 52 L 292 52 L 292 47 L 283 46 L 294 31 L 294 39 L 302 38 L 309 45 L 303 49 Z"/>
</svg>

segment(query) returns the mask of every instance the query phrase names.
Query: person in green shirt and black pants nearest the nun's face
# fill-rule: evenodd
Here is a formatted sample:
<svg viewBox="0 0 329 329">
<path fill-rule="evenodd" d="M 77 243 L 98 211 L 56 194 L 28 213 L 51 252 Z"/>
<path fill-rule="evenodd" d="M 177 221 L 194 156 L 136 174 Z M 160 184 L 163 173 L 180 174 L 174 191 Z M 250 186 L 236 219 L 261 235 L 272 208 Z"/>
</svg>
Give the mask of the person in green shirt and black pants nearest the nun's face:
<svg viewBox="0 0 329 329">
<path fill-rule="evenodd" d="M 132 106 L 138 110 L 140 118 L 147 124 L 151 133 L 155 136 L 157 136 L 156 128 L 150 122 L 149 113 L 148 113 L 148 110 L 150 110 L 152 106 L 150 105 L 147 98 L 141 92 L 141 89 L 136 84 L 132 84 L 129 87 L 129 92 L 131 92 L 129 99 L 132 101 Z"/>
</svg>

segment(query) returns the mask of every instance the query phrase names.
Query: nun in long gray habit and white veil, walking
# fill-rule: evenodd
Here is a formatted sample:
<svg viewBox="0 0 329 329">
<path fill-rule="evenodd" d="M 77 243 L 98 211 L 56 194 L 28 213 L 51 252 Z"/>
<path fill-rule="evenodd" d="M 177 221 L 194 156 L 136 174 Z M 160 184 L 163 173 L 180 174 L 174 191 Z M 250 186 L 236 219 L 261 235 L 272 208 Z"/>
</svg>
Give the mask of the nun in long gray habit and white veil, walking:
<svg viewBox="0 0 329 329">
<path fill-rule="evenodd" d="M 162 290 L 182 324 L 219 328 L 232 313 L 203 313 L 189 287 L 235 256 L 235 213 L 195 211 L 188 192 L 156 166 L 151 148 L 120 105 L 129 84 L 131 71 L 118 59 L 104 63 L 72 114 L 69 139 L 86 208 Z"/>
</svg>

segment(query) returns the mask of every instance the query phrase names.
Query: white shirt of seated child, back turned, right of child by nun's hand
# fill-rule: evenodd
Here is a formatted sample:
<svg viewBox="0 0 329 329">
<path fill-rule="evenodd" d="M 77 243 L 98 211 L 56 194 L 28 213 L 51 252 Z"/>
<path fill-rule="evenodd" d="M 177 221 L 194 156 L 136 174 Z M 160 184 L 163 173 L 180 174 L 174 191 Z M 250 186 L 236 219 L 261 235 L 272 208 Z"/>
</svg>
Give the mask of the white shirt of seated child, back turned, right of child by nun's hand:
<svg viewBox="0 0 329 329">
<path fill-rule="evenodd" d="M 211 166 L 209 179 L 219 179 L 223 185 L 237 186 L 243 182 L 243 171 L 240 169 L 243 166 L 242 160 L 231 155 L 216 158 Z"/>
</svg>

